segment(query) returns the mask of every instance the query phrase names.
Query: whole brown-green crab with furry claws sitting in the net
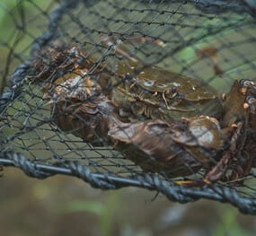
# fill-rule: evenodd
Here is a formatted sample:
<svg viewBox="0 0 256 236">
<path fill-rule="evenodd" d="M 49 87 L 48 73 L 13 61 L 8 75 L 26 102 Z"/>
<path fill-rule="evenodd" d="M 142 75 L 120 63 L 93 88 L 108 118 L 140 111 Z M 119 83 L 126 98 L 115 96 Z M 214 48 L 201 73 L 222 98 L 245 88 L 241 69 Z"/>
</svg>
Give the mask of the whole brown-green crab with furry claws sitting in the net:
<svg viewBox="0 0 256 236">
<path fill-rule="evenodd" d="M 76 50 L 66 73 L 51 81 L 31 76 L 44 84 L 52 122 L 89 144 L 111 145 L 142 170 L 166 178 L 204 169 L 199 182 L 211 184 L 250 172 L 256 163 L 256 86 L 251 80 L 235 81 L 220 98 L 195 79 L 126 59 L 115 73 L 104 64 L 93 74 L 93 59 L 84 60 Z"/>
</svg>

